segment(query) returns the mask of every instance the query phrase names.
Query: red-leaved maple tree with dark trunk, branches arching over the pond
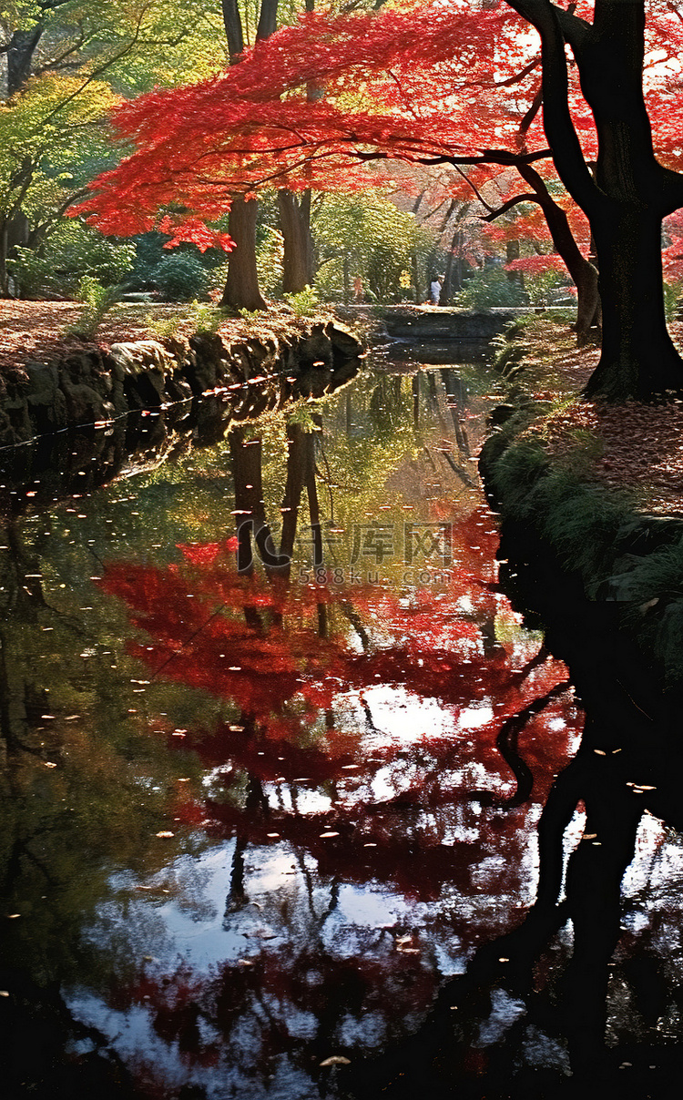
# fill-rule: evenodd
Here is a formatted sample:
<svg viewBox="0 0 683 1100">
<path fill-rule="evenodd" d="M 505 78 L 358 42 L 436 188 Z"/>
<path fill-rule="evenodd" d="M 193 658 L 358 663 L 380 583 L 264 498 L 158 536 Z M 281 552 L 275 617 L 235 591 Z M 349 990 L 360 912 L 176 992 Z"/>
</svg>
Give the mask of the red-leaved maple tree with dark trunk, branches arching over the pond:
<svg viewBox="0 0 683 1100">
<path fill-rule="evenodd" d="M 483 10 L 309 13 L 223 76 L 121 108 L 115 128 L 136 151 L 96 182 L 84 209 L 106 231 L 140 232 L 170 208 L 178 238 L 194 239 L 190 219 L 217 218 L 235 190 L 359 186 L 365 162 L 382 158 L 498 164 L 521 173 L 581 285 L 594 275 L 535 168 L 552 156 L 599 258 L 605 334 L 590 391 L 678 389 L 683 365 L 664 323 L 660 227 L 683 202 L 667 64 L 682 28 L 675 4 L 656 4 L 646 35 L 643 11 L 643 0 L 569 9 L 508 0 Z M 643 94 L 646 45 L 657 64 Z"/>
</svg>

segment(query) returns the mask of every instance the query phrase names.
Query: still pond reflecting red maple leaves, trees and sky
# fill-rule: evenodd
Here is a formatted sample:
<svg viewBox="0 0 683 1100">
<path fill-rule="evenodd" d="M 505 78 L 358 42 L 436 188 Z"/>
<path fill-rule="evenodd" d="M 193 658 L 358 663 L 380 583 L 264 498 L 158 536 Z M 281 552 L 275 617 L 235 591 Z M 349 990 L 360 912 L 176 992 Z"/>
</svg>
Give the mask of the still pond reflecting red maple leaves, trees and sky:
<svg viewBox="0 0 683 1100">
<path fill-rule="evenodd" d="M 99 487 L 92 433 L 3 454 L 8 1096 L 542 1097 L 605 1021 L 665 1072 L 678 834 L 627 831 L 615 961 L 540 904 L 584 716 L 499 583 L 492 387 L 378 361 Z"/>
</svg>

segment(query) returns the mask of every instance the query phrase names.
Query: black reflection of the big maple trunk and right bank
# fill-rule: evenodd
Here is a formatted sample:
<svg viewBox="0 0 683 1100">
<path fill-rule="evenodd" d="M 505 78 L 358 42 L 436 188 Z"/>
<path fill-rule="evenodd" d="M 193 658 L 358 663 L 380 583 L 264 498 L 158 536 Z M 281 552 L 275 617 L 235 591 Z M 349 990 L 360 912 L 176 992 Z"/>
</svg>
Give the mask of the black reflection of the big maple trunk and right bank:
<svg viewBox="0 0 683 1100">
<path fill-rule="evenodd" d="M 581 745 L 540 817 L 536 900 L 445 985 L 409 1047 L 375 1065 L 370 1084 L 355 1081 L 357 1096 L 408 1097 L 418 1080 L 434 1094 L 460 1094 L 454 1079 L 476 1097 L 667 1094 L 676 1055 L 663 1037 L 680 1008 L 678 961 L 667 955 L 678 949 L 680 898 L 665 895 L 659 914 L 650 908 L 651 861 L 642 872 L 649 926 L 636 934 L 624 923 L 624 881 L 643 822 L 683 824 L 681 685 L 665 684 L 646 659 L 623 607 L 587 601 L 547 548 L 541 556 L 528 532 L 521 553 L 520 542 L 518 530 L 504 530 L 510 561 L 502 573 L 522 606 L 543 614 L 548 645 L 586 712 Z M 528 1057 L 533 1044 L 525 1066 L 520 1050 Z M 571 1077 L 562 1074 L 565 1044 Z"/>
</svg>

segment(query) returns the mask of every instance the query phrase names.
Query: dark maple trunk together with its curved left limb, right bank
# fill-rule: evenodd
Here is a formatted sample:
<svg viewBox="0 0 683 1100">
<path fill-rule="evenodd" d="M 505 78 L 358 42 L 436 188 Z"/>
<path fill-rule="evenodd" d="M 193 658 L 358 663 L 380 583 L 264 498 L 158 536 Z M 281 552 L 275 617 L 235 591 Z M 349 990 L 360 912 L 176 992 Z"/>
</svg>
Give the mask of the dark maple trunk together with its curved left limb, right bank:
<svg viewBox="0 0 683 1100">
<path fill-rule="evenodd" d="M 683 206 L 683 177 L 654 157 L 642 94 L 645 0 L 596 0 L 593 24 L 548 0 L 508 0 L 541 35 L 543 125 L 555 167 L 596 244 L 601 361 L 586 387 L 610 400 L 683 392 L 683 360 L 667 331 L 661 222 Z M 598 136 L 595 178 L 568 100 L 564 43 Z"/>
</svg>

